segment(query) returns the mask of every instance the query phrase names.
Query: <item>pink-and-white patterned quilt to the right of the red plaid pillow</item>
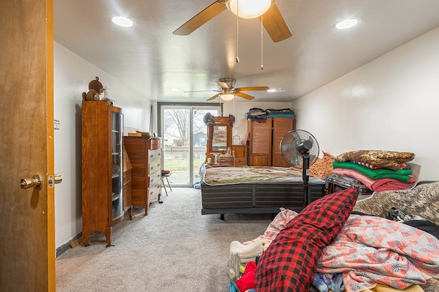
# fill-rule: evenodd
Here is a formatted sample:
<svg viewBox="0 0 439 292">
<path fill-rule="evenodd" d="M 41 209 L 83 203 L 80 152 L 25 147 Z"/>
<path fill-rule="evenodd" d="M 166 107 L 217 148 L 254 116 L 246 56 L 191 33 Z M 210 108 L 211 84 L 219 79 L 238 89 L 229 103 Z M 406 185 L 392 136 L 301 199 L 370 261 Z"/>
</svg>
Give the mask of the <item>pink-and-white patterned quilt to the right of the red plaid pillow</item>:
<svg viewBox="0 0 439 292">
<path fill-rule="evenodd" d="M 317 271 L 343 273 L 347 292 L 377 283 L 402 290 L 439 277 L 439 240 L 403 223 L 351 215 L 323 249 Z"/>
</svg>

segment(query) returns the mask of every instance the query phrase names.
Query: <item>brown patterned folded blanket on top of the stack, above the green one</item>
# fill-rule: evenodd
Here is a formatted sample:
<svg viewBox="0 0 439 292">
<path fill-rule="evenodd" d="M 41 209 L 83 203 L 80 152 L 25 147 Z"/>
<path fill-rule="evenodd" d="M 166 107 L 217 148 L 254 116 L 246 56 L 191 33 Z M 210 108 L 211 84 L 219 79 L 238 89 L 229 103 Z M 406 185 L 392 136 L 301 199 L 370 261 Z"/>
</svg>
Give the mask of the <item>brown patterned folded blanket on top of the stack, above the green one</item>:
<svg viewBox="0 0 439 292">
<path fill-rule="evenodd" d="M 411 152 L 396 152 L 388 150 L 355 150 L 344 152 L 335 157 L 335 161 L 361 161 L 380 168 L 399 170 L 400 165 L 412 161 L 415 155 Z"/>
</svg>

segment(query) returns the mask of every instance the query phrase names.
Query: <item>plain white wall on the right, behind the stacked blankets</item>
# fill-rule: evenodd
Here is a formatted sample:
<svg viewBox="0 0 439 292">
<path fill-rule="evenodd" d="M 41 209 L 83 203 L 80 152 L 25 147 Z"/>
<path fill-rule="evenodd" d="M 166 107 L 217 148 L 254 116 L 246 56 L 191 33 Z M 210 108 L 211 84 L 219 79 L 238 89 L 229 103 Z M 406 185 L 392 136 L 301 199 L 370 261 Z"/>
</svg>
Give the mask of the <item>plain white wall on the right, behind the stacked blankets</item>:
<svg viewBox="0 0 439 292">
<path fill-rule="evenodd" d="M 291 103 L 321 150 L 413 152 L 438 180 L 439 28 Z"/>
</svg>

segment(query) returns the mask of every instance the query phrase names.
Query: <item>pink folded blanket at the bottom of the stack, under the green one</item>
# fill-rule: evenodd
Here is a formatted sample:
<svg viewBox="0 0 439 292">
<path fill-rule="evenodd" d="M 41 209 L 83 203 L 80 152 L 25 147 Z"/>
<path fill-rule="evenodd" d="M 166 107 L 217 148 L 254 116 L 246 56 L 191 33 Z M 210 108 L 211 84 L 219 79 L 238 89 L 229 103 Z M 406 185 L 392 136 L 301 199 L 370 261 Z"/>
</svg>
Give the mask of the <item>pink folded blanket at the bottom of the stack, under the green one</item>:
<svg viewBox="0 0 439 292">
<path fill-rule="evenodd" d="M 357 170 L 350 170 L 348 168 L 335 168 L 333 170 L 335 174 L 341 174 L 344 176 L 349 176 L 357 179 L 357 181 L 361 181 L 364 183 L 368 189 L 371 191 L 390 191 L 390 190 L 399 190 L 399 189 L 410 189 L 414 186 L 415 180 L 410 177 L 409 181 L 398 181 L 394 178 L 379 178 L 374 180 Z"/>
</svg>

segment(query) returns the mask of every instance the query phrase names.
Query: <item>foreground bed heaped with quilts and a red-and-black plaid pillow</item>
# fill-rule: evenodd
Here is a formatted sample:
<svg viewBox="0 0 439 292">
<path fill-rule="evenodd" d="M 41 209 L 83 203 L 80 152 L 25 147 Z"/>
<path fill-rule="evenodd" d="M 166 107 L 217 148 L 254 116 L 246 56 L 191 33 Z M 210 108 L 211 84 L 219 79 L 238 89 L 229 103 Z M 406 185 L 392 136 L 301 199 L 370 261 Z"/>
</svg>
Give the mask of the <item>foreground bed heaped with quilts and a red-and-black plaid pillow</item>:
<svg viewBox="0 0 439 292">
<path fill-rule="evenodd" d="M 439 182 L 357 198 L 345 189 L 279 212 L 263 235 L 238 243 L 253 256 L 247 265 L 257 262 L 252 272 L 236 271 L 230 245 L 230 290 L 439 291 Z"/>
</svg>

